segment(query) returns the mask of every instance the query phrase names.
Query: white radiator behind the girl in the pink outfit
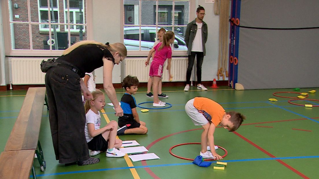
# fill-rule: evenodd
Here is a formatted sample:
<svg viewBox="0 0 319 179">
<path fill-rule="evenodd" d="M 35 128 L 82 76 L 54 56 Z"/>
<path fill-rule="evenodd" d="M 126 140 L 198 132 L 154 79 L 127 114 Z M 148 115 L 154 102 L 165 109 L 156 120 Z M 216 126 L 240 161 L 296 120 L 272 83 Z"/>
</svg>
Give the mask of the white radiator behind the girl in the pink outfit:
<svg viewBox="0 0 319 179">
<path fill-rule="evenodd" d="M 125 74 L 136 76 L 139 82 L 147 82 L 149 79 L 150 66 L 145 67 L 146 58 L 142 59 L 126 59 Z M 171 65 L 171 73 L 173 81 L 186 81 L 187 58 L 173 58 Z M 167 62 L 163 69 L 163 82 L 168 82 Z"/>
</svg>

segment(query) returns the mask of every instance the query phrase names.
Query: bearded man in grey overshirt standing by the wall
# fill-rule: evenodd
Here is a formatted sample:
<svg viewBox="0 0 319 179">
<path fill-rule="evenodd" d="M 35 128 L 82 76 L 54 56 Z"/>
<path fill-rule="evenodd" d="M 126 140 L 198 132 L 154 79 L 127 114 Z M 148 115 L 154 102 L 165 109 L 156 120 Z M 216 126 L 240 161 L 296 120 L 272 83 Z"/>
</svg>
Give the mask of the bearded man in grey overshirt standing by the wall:
<svg viewBox="0 0 319 179">
<path fill-rule="evenodd" d="M 202 85 L 202 64 L 205 53 L 205 43 L 207 41 L 207 24 L 203 21 L 205 9 L 199 6 L 196 10 L 197 18 L 187 25 L 185 33 L 185 42 L 188 48 L 188 67 L 186 72 L 186 86 L 184 91 L 189 91 L 190 75 L 192 73 L 195 56 L 197 60 L 197 89 L 207 90 Z"/>
</svg>

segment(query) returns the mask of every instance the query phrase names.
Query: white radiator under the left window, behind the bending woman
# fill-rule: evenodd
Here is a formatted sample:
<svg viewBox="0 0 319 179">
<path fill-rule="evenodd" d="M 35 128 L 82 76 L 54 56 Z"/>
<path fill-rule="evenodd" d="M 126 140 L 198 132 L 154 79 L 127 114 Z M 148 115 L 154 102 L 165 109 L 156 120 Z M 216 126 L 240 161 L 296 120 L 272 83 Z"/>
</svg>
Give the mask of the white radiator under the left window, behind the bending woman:
<svg viewBox="0 0 319 179">
<path fill-rule="evenodd" d="M 44 84 L 45 73 L 40 64 L 43 59 L 12 58 L 12 84 Z"/>
</svg>

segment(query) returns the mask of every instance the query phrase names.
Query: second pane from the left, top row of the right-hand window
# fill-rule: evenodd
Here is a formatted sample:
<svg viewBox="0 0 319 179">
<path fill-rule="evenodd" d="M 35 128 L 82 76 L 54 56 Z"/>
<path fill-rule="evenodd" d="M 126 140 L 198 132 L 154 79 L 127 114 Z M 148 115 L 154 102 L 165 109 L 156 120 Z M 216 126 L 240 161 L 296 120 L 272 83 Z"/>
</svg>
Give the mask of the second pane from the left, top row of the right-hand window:
<svg viewBox="0 0 319 179">
<path fill-rule="evenodd" d="M 156 10 L 156 1 L 147 1 L 147 0 L 141 1 L 142 25 L 156 25 L 155 10 Z"/>
</svg>

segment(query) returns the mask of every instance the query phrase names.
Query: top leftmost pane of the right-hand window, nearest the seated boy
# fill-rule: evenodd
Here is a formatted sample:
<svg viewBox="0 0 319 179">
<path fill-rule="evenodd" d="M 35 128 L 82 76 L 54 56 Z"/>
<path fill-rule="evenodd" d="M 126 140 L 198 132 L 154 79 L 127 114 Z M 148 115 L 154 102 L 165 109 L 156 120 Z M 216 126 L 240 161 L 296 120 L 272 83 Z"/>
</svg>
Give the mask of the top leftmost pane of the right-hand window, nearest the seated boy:
<svg viewBox="0 0 319 179">
<path fill-rule="evenodd" d="M 139 1 L 124 0 L 124 24 L 139 24 Z"/>
</svg>

